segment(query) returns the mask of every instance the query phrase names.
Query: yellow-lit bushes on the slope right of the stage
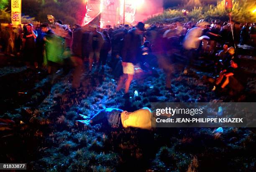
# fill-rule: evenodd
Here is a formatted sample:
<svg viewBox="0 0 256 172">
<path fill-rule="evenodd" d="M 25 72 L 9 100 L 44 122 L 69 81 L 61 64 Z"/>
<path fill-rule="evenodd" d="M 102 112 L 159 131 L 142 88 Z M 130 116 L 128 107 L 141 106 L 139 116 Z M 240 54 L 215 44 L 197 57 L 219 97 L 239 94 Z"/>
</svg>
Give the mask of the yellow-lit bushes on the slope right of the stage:
<svg viewBox="0 0 256 172">
<path fill-rule="evenodd" d="M 225 0 L 218 1 L 217 5 L 205 5 L 203 7 L 194 7 L 192 11 L 189 11 L 187 16 L 182 14 L 182 8 L 175 10 L 166 10 L 163 14 L 156 15 L 152 18 L 148 18 L 146 23 L 154 23 L 156 21 L 163 23 L 172 23 L 176 21 L 198 21 L 200 19 L 210 20 L 222 20 L 228 21 L 229 16 L 224 8 Z M 233 0 L 232 20 L 236 22 L 255 22 L 256 15 L 252 13 L 252 10 L 256 7 L 255 0 Z"/>
</svg>

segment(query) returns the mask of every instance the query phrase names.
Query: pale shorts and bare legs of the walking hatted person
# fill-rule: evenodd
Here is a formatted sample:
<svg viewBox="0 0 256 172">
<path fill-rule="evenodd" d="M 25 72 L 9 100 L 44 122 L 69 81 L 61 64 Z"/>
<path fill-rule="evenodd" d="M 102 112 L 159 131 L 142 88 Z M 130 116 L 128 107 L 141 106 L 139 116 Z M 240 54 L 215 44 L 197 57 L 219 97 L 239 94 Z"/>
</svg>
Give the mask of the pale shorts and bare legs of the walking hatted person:
<svg viewBox="0 0 256 172">
<path fill-rule="evenodd" d="M 133 66 L 133 63 L 126 63 L 126 62 L 122 62 L 122 66 L 123 66 L 123 75 L 120 76 L 116 91 L 119 91 L 122 88 L 123 83 L 126 79 L 125 81 L 125 94 L 126 94 L 129 92 L 131 81 L 133 80 L 134 66 Z"/>
</svg>

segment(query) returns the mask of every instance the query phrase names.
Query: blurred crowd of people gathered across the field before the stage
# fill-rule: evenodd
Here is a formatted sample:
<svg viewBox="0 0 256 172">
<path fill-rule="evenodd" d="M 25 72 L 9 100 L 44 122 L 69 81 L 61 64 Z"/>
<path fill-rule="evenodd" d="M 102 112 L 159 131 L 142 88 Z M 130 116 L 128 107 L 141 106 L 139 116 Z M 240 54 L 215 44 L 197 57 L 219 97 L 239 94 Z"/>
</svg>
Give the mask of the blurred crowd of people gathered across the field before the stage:
<svg viewBox="0 0 256 172">
<path fill-rule="evenodd" d="M 71 28 L 57 20 L 37 27 L 29 23 L 13 28 L 9 24 L 2 30 L 1 45 L 5 54 L 18 56 L 28 68 L 47 68 L 48 73 L 55 73 L 60 67 L 65 71 L 73 66 L 74 89 L 80 87 L 84 62 L 88 62 L 88 75 L 93 68 L 104 73 L 108 63 L 115 78 L 119 78 L 117 91 L 124 87 L 125 96 L 129 94 L 134 68 L 148 71 L 158 66 L 166 74 L 166 90 L 172 92 L 174 53 L 180 53 L 186 57 L 184 73 L 197 58 L 206 56 L 212 61 L 212 72 L 219 76 L 209 79 L 214 84 L 212 90 L 223 91 L 230 86 L 240 92 L 245 81 L 235 48 L 238 43 L 255 45 L 255 24 L 240 24 L 238 28 L 230 21 L 200 20 L 171 25 L 153 23 L 147 29 L 142 22 L 136 26 L 99 28 L 90 24 Z"/>
</svg>

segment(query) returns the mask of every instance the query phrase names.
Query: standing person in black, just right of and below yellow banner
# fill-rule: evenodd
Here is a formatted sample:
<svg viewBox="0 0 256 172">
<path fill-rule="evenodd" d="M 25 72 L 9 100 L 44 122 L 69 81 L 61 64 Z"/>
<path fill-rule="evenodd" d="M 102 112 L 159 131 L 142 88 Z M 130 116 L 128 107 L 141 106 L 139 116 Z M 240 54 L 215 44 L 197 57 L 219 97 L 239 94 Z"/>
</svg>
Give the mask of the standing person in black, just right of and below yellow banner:
<svg viewBox="0 0 256 172">
<path fill-rule="evenodd" d="M 31 63 L 34 63 L 35 68 L 38 68 L 38 59 L 36 57 L 36 38 L 37 33 L 33 29 L 33 24 L 27 25 L 27 31 L 23 35 L 23 48 L 24 58 L 27 67 L 30 67 Z"/>
</svg>

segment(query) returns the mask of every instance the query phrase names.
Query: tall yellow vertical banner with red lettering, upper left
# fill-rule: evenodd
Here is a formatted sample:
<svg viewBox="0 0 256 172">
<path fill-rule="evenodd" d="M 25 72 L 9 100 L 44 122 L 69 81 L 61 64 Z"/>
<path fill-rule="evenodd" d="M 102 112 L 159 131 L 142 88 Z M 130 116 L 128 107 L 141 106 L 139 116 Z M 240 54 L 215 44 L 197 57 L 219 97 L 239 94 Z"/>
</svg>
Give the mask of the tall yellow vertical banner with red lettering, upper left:
<svg viewBox="0 0 256 172">
<path fill-rule="evenodd" d="M 12 0 L 12 24 L 19 25 L 21 24 L 21 0 Z"/>
</svg>

